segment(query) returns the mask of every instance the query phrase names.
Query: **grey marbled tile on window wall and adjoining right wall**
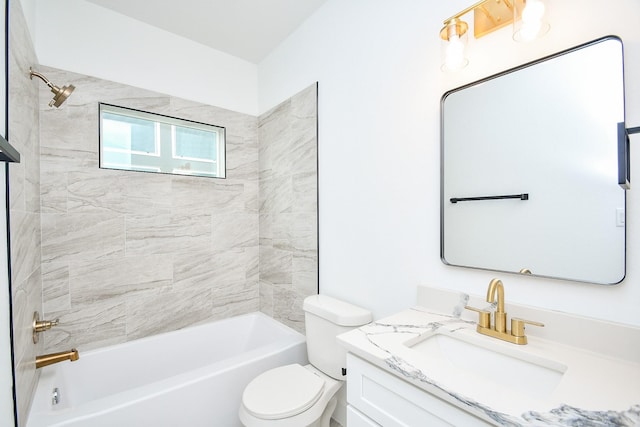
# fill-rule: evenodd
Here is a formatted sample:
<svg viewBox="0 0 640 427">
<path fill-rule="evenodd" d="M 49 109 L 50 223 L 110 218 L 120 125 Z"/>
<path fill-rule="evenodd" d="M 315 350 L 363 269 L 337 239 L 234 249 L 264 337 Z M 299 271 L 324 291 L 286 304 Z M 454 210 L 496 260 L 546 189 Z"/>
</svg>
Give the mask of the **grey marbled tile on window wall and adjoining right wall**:
<svg viewBox="0 0 640 427">
<path fill-rule="evenodd" d="M 303 329 L 317 292 L 315 85 L 256 118 L 40 68 L 76 86 L 59 110 L 40 91 L 44 311 L 60 318 L 47 351 L 261 307 Z M 224 126 L 227 178 L 98 168 L 98 102 Z M 273 129 L 260 143 L 259 123 Z"/>
</svg>

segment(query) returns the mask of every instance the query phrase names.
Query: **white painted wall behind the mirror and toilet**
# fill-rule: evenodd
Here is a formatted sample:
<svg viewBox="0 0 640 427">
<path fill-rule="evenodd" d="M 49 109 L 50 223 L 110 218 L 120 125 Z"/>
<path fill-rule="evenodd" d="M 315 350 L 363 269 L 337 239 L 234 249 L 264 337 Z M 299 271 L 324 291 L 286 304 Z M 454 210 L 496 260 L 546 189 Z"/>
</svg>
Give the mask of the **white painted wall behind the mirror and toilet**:
<svg viewBox="0 0 640 427">
<path fill-rule="evenodd" d="M 320 292 L 379 317 L 414 304 L 417 285 L 483 295 L 498 275 L 507 301 L 640 325 L 639 190 L 627 195 L 627 277 L 617 286 L 449 267 L 439 254 L 442 94 L 615 34 L 625 44 L 627 123 L 638 126 L 640 2 L 603 8 L 596 0 L 551 0 L 545 38 L 514 43 L 510 28 L 470 37 L 470 65 L 442 73 L 442 21 L 470 3 L 330 0 L 259 65 L 261 111 L 319 82 Z M 639 139 L 632 137 L 632 146 Z"/>
</svg>

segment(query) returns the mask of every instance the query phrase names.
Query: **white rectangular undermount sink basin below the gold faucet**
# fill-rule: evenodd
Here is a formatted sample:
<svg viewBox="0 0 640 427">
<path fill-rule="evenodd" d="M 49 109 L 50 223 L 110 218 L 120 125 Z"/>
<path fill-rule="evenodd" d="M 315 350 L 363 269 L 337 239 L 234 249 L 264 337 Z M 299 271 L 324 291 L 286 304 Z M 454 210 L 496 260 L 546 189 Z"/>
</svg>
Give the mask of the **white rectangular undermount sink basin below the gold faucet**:
<svg viewBox="0 0 640 427">
<path fill-rule="evenodd" d="M 502 343 L 492 346 L 482 341 L 486 340 L 436 333 L 406 345 L 429 357 L 429 364 L 434 368 L 454 368 L 465 381 L 487 381 L 507 388 L 505 391 L 518 390 L 532 397 L 549 396 L 567 370 L 565 365 L 553 360 L 510 349 Z"/>
</svg>

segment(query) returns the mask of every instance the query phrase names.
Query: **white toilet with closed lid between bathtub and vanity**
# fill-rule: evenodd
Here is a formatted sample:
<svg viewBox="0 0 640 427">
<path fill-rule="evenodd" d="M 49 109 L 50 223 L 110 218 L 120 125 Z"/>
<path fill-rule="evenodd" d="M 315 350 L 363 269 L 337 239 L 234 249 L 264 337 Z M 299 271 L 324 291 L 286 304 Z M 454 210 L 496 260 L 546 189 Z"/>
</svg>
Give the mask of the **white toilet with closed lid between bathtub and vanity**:
<svg viewBox="0 0 640 427">
<path fill-rule="evenodd" d="M 246 427 L 329 427 L 345 377 L 346 350 L 336 336 L 371 322 L 371 312 L 326 295 L 304 300 L 310 364 L 280 366 L 244 389 L 240 421 Z"/>
</svg>

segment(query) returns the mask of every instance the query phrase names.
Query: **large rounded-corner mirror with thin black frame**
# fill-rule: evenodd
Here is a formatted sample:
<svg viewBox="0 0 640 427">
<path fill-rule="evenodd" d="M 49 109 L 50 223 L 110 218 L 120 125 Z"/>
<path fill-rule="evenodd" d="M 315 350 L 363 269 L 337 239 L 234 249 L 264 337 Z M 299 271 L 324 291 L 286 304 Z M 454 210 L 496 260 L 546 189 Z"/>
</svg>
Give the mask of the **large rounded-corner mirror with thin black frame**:
<svg viewBox="0 0 640 427">
<path fill-rule="evenodd" d="M 624 279 L 619 38 L 451 90 L 441 107 L 444 263 L 599 284 Z"/>
</svg>

